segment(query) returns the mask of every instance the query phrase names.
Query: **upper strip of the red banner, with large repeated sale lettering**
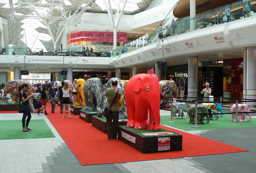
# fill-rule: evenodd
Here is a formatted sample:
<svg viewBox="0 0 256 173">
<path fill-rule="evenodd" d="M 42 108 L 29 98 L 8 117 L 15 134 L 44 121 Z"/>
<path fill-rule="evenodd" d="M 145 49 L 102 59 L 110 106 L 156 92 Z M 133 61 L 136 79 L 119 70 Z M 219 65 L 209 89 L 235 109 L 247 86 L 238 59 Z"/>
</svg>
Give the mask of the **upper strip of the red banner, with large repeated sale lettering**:
<svg viewBox="0 0 256 173">
<path fill-rule="evenodd" d="M 105 38 L 113 38 L 113 32 L 90 32 L 90 31 L 82 31 L 76 32 L 69 35 L 69 39 L 78 38 L 78 37 L 105 37 Z M 127 33 L 117 32 L 117 38 L 127 38 Z"/>
</svg>

